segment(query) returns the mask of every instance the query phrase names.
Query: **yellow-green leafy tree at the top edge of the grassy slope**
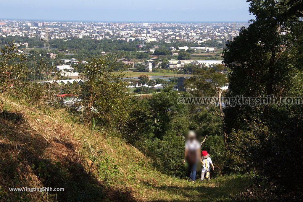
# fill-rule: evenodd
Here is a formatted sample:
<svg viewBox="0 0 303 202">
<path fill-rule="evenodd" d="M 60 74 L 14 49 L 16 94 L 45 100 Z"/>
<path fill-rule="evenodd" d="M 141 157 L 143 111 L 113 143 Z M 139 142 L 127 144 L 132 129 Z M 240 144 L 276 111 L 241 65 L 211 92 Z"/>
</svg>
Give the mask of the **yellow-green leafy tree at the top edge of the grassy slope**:
<svg viewBox="0 0 303 202">
<path fill-rule="evenodd" d="M 85 122 L 95 117 L 99 124 L 111 124 L 118 128 L 127 120 L 128 96 L 124 74 L 111 72 L 117 65 L 116 58 L 106 55 L 92 58 L 85 64 L 83 73 L 86 82 L 82 90 L 82 103 L 85 111 Z M 110 65 L 110 66 L 109 66 Z"/>
</svg>

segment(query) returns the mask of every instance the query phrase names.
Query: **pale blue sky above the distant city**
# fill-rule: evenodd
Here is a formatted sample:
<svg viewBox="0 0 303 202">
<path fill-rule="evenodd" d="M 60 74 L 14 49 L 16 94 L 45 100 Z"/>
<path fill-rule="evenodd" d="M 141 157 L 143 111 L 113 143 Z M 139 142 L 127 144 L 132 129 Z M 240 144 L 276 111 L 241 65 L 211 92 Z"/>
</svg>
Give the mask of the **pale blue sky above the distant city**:
<svg viewBox="0 0 303 202">
<path fill-rule="evenodd" d="M 248 21 L 246 0 L 0 0 L 0 18 L 77 21 Z"/>
</svg>

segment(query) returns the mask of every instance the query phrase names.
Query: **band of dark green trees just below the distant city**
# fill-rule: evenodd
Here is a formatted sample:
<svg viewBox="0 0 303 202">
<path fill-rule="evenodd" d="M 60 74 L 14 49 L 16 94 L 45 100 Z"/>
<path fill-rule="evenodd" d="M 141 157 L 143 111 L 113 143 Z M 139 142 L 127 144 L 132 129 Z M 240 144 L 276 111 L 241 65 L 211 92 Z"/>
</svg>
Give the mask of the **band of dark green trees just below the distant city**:
<svg viewBox="0 0 303 202">
<path fill-rule="evenodd" d="M 0 41 L 5 42 L 6 44 L 11 41 L 15 41 L 18 43 L 28 43 L 29 48 L 33 47 L 43 47 L 44 41 L 41 41 L 40 38 L 28 38 L 28 37 L 0 37 Z M 52 39 L 49 40 L 51 51 L 55 51 L 58 49 L 59 51 L 65 52 L 65 50 L 70 51 L 69 53 L 77 54 L 78 58 L 86 58 L 96 55 L 101 55 L 102 52 L 109 53 L 120 53 L 125 52 L 126 57 L 129 59 L 147 59 L 151 57 L 150 52 L 137 52 L 137 50 L 148 50 L 150 48 L 154 48 L 154 46 L 160 47 L 159 50 L 155 51 L 155 55 L 165 55 L 169 59 L 170 49 L 169 47 L 180 47 L 180 46 L 188 46 L 188 47 L 205 47 L 205 46 L 215 46 L 218 48 L 224 47 L 224 44 L 218 44 L 217 42 L 206 41 L 203 44 L 199 45 L 194 42 L 188 41 L 178 41 L 173 40 L 171 43 L 165 42 L 151 42 L 145 43 L 146 47 L 138 48 L 136 45 L 141 44 L 139 41 L 131 41 L 127 42 L 124 40 L 116 40 L 116 39 L 102 39 L 102 40 L 94 40 L 89 37 L 84 37 L 83 39 L 73 38 L 73 39 Z M 161 52 L 162 51 L 162 52 Z"/>
</svg>

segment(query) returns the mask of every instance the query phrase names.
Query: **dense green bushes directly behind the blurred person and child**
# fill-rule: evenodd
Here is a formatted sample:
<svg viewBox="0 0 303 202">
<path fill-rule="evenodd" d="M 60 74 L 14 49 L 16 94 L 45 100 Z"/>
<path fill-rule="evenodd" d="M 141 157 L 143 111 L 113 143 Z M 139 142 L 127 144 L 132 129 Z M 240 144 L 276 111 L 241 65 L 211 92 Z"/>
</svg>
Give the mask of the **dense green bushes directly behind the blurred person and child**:
<svg viewBox="0 0 303 202">
<path fill-rule="evenodd" d="M 220 117 L 202 107 L 178 104 L 181 96 L 167 85 L 151 97 L 133 98 L 130 119 L 123 128 L 124 137 L 151 157 L 158 169 L 182 177 L 185 175 L 182 164 L 185 134 L 188 129 L 199 129 L 211 136 L 205 148 L 214 154 L 213 161 L 218 163 L 216 174 L 224 173 L 226 155 Z"/>
</svg>

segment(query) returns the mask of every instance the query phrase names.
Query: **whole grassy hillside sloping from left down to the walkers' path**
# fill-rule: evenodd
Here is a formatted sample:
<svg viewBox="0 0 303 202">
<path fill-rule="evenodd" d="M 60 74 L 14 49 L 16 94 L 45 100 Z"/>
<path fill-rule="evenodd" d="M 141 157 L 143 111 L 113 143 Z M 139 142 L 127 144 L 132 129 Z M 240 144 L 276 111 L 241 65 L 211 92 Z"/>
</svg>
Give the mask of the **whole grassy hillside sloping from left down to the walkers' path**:
<svg viewBox="0 0 303 202">
<path fill-rule="evenodd" d="M 115 132 L 93 131 L 73 119 L 64 109 L 0 99 L 0 200 L 229 201 L 251 184 L 241 175 L 192 183 L 161 174 Z M 12 187 L 65 191 L 9 191 Z"/>
</svg>

